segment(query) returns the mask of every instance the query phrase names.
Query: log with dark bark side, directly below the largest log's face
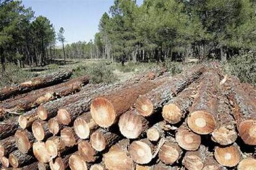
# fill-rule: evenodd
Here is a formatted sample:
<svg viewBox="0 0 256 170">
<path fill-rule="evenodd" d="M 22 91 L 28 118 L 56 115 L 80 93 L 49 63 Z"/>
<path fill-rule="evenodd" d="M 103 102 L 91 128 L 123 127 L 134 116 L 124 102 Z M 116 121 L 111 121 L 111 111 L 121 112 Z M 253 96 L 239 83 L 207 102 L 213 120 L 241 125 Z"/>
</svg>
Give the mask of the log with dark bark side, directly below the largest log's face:
<svg viewBox="0 0 256 170">
<path fill-rule="evenodd" d="M 90 136 L 90 143 L 96 151 L 101 152 L 105 150 L 105 148 L 111 147 L 111 145 L 120 139 L 121 137 L 119 135 L 100 128 Z"/>
</svg>

